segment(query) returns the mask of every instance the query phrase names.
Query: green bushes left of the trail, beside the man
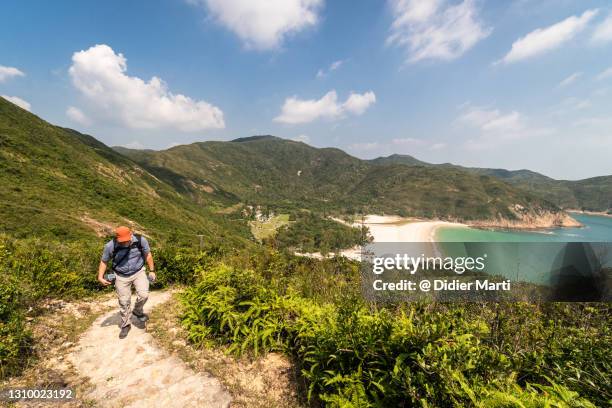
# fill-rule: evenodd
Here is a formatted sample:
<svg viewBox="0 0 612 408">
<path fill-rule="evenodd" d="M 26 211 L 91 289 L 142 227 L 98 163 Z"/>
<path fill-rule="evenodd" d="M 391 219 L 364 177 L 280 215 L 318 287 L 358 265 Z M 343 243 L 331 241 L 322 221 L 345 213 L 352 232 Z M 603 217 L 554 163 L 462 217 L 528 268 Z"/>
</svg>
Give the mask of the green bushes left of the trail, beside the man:
<svg viewBox="0 0 612 408">
<path fill-rule="evenodd" d="M 47 298 L 74 298 L 100 290 L 99 248 L 0 235 L 0 379 L 19 372 L 31 355 L 26 312 Z"/>
</svg>

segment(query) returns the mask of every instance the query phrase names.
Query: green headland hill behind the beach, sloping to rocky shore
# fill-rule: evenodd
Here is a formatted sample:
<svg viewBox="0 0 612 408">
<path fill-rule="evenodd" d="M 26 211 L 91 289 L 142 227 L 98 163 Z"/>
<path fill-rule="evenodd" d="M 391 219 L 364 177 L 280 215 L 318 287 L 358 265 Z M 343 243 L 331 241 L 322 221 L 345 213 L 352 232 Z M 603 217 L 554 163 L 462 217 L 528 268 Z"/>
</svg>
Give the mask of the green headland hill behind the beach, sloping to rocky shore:
<svg viewBox="0 0 612 408">
<path fill-rule="evenodd" d="M 514 219 L 515 206 L 556 212 L 553 204 L 495 177 L 457 169 L 377 166 L 350 191 L 368 212 L 461 220 Z"/>
</svg>

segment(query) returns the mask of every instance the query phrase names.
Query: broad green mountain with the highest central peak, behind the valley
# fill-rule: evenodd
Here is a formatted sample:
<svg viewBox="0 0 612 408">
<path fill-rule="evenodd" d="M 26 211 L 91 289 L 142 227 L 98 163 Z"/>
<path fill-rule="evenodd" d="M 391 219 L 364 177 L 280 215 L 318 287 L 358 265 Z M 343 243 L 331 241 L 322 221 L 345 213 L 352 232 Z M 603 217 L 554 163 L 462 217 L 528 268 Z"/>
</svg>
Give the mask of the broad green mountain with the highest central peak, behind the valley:
<svg viewBox="0 0 612 408">
<path fill-rule="evenodd" d="M 277 207 L 317 207 L 359 182 L 368 165 L 339 149 L 273 136 L 202 142 L 160 152 L 119 150 L 193 195 L 235 197 Z"/>
</svg>

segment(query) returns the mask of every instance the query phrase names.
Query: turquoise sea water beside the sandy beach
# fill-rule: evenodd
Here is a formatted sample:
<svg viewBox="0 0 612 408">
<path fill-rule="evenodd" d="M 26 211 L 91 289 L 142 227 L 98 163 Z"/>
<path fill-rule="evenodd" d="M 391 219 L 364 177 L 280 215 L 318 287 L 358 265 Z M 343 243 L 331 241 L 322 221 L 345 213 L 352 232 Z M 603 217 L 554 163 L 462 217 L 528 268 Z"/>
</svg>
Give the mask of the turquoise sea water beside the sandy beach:
<svg viewBox="0 0 612 408">
<path fill-rule="evenodd" d="M 488 273 L 517 281 L 550 285 L 568 265 L 580 264 L 583 275 L 592 273 L 593 265 L 612 268 L 612 218 L 573 216 L 583 227 L 538 231 L 444 227 L 436 232 L 436 241 L 447 256 L 488 253 Z"/>
</svg>

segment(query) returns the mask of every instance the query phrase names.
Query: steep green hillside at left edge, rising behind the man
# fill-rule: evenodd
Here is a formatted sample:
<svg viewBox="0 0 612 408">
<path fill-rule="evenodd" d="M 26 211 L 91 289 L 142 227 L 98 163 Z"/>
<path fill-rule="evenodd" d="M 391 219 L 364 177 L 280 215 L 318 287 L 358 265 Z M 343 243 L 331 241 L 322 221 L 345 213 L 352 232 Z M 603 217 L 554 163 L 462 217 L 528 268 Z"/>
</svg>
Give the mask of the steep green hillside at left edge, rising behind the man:
<svg viewBox="0 0 612 408">
<path fill-rule="evenodd" d="M 215 203 L 210 202 L 213 208 Z M 166 235 L 247 236 L 97 141 L 0 98 L 0 232 L 74 238 L 129 223 Z"/>
</svg>

